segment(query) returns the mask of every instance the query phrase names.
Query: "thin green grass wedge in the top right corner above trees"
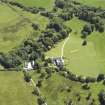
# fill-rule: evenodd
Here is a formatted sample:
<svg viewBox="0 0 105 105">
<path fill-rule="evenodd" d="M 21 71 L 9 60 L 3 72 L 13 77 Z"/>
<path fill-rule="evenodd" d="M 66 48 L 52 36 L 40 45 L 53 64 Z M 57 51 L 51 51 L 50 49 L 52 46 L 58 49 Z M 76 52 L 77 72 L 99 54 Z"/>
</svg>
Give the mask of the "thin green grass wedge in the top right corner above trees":
<svg viewBox="0 0 105 105">
<path fill-rule="evenodd" d="M 105 9 L 105 0 L 76 0 L 82 4 Z"/>
</svg>

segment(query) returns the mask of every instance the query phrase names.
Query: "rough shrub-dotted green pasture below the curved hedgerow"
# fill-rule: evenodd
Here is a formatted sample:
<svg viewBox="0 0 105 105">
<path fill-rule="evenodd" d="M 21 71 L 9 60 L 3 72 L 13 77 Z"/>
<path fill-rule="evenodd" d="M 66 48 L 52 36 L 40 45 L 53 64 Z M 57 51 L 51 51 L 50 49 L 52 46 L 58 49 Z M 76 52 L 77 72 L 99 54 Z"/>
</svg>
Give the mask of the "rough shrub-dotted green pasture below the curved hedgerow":
<svg viewBox="0 0 105 105">
<path fill-rule="evenodd" d="M 40 75 L 36 72 L 32 75 L 33 80 L 36 82 L 40 79 Z M 74 105 L 88 105 L 86 97 L 89 92 L 92 92 L 92 98 L 95 99 L 95 105 L 99 105 L 98 93 L 101 89 L 104 89 L 102 83 L 90 84 L 90 90 L 83 90 L 82 84 L 68 80 L 59 75 L 59 73 L 53 73 L 49 79 L 44 79 L 40 92 L 43 97 L 46 98 L 48 105 L 64 105 L 64 102 L 71 99 Z M 70 88 L 70 92 L 67 92 L 67 88 Z M 81 100 L 78 102 L 76 94 L 80 94 Z"/>
</svg>

